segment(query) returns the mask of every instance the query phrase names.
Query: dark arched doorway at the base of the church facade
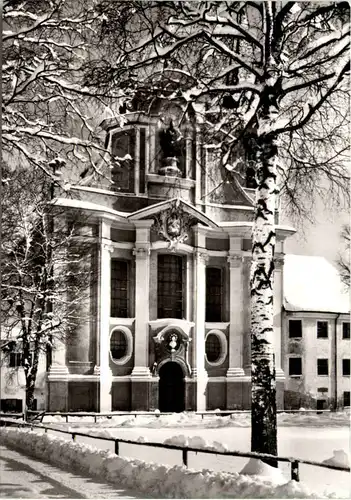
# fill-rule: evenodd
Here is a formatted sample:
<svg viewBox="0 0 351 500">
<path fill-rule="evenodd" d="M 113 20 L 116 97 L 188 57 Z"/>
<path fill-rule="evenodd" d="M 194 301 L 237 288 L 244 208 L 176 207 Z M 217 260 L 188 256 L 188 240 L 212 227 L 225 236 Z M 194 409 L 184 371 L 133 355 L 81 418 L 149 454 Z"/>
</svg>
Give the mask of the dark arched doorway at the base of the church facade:
<svg viewBox="0 0 351 500">
<path fill-rule="evenodd" d="M 165 363 L 159 371 L 159 409 L 167 412 L 181 412 L 184 404 L 184 375 L 178 363 Z"/>
</svg>

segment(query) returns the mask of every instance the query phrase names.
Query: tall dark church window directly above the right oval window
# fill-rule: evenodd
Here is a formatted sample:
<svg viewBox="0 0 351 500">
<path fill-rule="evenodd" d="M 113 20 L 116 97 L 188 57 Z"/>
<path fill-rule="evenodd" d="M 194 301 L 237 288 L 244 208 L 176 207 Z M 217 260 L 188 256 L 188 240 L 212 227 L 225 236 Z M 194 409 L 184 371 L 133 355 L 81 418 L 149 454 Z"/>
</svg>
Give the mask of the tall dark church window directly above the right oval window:
<svg viewBox="0 0 351 500">
<path fill-rule="evenodd" d="M 206 321 L 222 321 L 223 279 L 219 267 L 206 268 Z"/>
</svg>

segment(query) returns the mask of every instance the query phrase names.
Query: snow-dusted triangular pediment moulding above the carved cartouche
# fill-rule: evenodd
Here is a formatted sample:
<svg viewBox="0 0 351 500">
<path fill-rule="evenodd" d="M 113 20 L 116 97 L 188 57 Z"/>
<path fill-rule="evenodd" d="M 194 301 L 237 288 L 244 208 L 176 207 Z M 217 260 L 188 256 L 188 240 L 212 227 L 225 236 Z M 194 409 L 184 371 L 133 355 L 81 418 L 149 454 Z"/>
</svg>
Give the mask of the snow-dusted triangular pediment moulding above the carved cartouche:
<svg viewBox="0 0 351 500">
<path fill-rule="evenodd" d="M 180 213 L 185 213 L 193 219 L 193 223 L 200 223 L 207 227 L 218 228 L 218 224 L 208 217 L 206 214 L 198 210 L 196 207 L 187 203 L 180 198 L 172 198 L 171 200 L 161 201 L 155 205 L 142 208 L 128 215 L 130 221 L 150 219 L 161 214 L 178 210 Z"/>
</svg>

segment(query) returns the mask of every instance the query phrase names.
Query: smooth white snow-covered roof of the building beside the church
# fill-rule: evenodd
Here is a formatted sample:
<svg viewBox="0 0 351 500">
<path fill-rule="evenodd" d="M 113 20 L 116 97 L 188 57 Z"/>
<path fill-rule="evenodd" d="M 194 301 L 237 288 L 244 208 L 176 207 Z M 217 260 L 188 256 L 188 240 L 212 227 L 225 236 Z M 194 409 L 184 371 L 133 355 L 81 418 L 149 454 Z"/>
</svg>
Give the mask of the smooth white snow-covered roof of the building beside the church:
<svg viewBox="0 0 351 500">
<path fill-rule="evenodd" d="M 350 294 L 336 267 L 324 257 L 288 254 L 284 262 L 284 308 L 348 313 Z"/>
</svg>

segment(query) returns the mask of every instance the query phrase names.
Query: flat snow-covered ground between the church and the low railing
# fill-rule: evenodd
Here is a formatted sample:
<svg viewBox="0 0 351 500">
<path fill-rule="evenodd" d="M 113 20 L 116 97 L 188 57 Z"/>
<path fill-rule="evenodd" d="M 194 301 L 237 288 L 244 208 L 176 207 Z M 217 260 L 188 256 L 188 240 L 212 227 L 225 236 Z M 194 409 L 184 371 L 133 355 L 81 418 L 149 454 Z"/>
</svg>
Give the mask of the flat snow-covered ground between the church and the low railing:
<svg viewBox="0 0 351 500">
<path fill-rule="evenodd" d="M 113 416 L 101 419 L 97 423 L 92 417 L 70 417 L 72 422 L 63 424 L 59 416 L 47 417 L 56 428 L 71 429 L 89 433 L 94 436 L 126 438 L 164 442 L 178 441 L 185 444 L 186 440 L 197 443 L 213 444 L 217 449 L 226 447 L 230 450 L 248 451 L 250 449 L 250 415 L 239 414 L 232 417 L 201 416 L 194 414 L 174 414 L 168 416 Z M 73 421 L 75 420 L 75 421 Z M 44 422 L 47 424 L 49 422 Z M 317 414 L 280 414 L 278 416 L 278 454 L 294 458 L 305 458 L 322 462 L 324 460 L 340 465 L 349 465 L 347 452 L 349 450 L 349 413 Z M 50 431 L 51 435 L 63 437 L 61 433 Z M 70 436 L 66 436 L 70 439 Z M 93 438 L 77 436 L 77 442 L 95 446 L 99 449 L 114 451 L 114 443 Z M 337 450 L 335 458 L 335 450 Z M 338 451 L 338 450 L 344 450 Z M 174 467 L 181 464 L 181 452 L 162 450 L 140 445 L 120 444 L 120 456 L 132 459 L 155 462 Z M 214 472 L 228 471 L 239 473 L 248 459 L 206 455 L 203 453 L 189 454 L 189 467 L 196 470 L 210 469 Z M 290 465 L 280 464 L 285 480 L 290 479 Z M 300 479 L 303 484 L 325 495 L 325 490 L 337 498 L 348 497 L 350 494 L 350 477 L 347 472 L 332 471 L 309 465 L 300 465 Z"/>
</svg>

